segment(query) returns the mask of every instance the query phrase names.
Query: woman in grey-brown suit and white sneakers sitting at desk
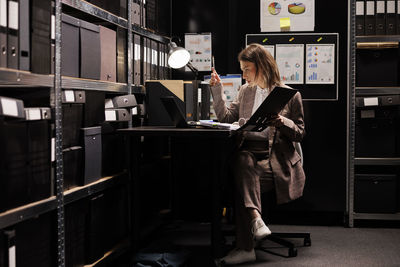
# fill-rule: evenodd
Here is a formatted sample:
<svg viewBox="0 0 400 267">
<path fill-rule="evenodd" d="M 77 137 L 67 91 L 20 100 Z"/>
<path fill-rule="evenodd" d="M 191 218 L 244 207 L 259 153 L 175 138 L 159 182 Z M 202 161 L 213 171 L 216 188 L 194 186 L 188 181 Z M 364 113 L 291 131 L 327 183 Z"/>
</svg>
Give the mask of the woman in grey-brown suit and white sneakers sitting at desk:
<svg viewBox="0 0 400 267">
<path fill-rule="evenodd" d="M 286 86 L 280 80 L 274 58 L 261 45 L 248 45 L 239 53 L 238 60 L 246 84 L 240 87 L 229 107 L 223 99 L 221 80 L 212 69 L 213 107 L 221 122 L 244 123 L 276 86 Z M 294 144 L 305 134 L 303 116 L 302 99 L 297 92 L 264 131 L 243 132 L 243 141 L 232 162 L 236 248 L 221 259 L 225 264 L 255 261 L 254 241 L 271 234 L 261 218 L 261 193 L 275 190 L 277 204 L 302 195 L 305 175 Z"/>
</svg>

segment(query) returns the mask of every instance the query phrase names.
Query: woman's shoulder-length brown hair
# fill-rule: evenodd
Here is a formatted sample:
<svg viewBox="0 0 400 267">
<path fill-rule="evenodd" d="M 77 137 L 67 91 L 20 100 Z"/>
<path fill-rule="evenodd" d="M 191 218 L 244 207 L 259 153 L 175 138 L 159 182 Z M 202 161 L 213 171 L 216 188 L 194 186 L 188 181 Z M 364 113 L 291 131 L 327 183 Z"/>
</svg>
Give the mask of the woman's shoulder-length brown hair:
<svg viewBox="0 0 400 267">
<path fill-rule="evenodd" d="M 257 79 L 264 79 L 268 88 L 281 85 L 278 65 L 272 55 L 262 45 L 249 44 L 239 53 L 238 60 L 254 63 Z"/>
</svg>

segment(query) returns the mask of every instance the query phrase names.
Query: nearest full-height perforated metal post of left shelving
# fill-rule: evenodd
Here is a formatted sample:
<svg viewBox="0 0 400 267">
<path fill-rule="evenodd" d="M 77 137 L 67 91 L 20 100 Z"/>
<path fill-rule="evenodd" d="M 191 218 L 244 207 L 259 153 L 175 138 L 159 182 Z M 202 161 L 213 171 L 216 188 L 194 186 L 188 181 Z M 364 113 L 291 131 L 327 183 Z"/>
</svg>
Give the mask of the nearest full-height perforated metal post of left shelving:
<svg viewBox="0 0 400 267">
<path fill-rule="evenodd" d="M 62 103 L 61 103 L 61 0 L 55 0 L 55 66 L 54 66 L 54 109 L 55 109 L 55 159 L 57 200 L 57 266 L 65 266 L 64 233 L 64 174 L 62 152 Z"/>
</svg>

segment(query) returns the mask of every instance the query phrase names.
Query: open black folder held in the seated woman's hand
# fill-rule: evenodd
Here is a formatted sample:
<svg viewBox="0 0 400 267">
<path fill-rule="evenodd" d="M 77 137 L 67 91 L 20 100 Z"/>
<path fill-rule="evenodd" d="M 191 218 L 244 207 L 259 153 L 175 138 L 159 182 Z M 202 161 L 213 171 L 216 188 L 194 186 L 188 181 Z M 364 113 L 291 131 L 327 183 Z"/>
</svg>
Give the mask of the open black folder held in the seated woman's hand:
<svg viewBox="0 0 400 267">
<path fill-rule="evenodd" d="M 251 118 L 239 130 L 261 132 L 273 115 L 279 114 L 289 100 L 298 92 L 296 89 L 275 87 L 261 103 Z"/>
</svg>

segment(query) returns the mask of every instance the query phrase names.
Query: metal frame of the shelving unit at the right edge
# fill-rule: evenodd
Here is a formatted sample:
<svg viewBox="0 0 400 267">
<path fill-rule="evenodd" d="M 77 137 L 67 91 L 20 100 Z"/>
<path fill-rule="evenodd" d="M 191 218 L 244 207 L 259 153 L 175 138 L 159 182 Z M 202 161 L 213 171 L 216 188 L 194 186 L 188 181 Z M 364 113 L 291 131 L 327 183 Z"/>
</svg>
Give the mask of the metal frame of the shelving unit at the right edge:
<svg viewBox="0 0 400 267">
<path fill-rule="evenodd" d="M 354 211 L 355 166 L 400 166 L 399 157 L 355 157 L 355 99 L 356 96 L 400 94 L 400 87 L 356 87 L 357 46 L 384 47 L 400 42 L 400 35 L 355 36 L 355 0 L 349 1 L 349 60 L 347 95 L 347 223 L 354 227 L 354 220 L 400 220 L 400 213 L 357 213 Z"/>
</svg>

